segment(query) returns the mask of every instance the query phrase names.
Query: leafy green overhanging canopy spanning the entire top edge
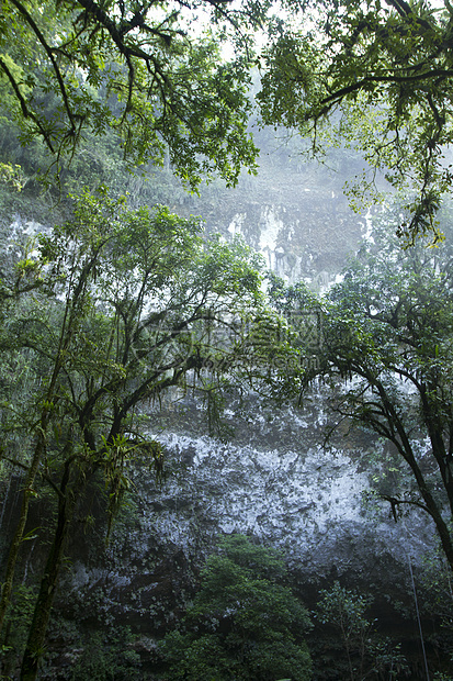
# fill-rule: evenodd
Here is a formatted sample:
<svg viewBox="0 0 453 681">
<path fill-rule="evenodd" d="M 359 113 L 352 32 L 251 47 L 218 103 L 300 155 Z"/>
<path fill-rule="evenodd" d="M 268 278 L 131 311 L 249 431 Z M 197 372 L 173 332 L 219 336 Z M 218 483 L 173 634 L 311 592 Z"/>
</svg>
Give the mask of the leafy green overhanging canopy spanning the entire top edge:
<svg viewBox="0 0 453 681">
<path fill-rule="evenodd" d="M 382 171 L 406 198 L 399 236 L 435 241 L 453 179 L 452 21 L 448 1 L 7 0 L 2 108 L 23 143 L 42 138 L 57 161 L 89 132 L 114 130 L 133 167 L 168 157 L 192 188 L 254 170 L 258 115 L 309 135 L 317 156 L 331 144 L 358 149 L 365 170 L 352 200 L 375 200 Z"/>
</svg>

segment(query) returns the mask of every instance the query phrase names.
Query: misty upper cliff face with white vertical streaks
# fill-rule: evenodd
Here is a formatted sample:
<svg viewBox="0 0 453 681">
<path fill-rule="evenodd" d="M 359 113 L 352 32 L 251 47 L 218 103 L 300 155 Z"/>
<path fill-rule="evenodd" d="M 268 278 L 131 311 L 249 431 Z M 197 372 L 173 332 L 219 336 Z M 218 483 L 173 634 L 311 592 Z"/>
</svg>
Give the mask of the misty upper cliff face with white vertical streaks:
<svg viewBox="0 0 453 681">
<path fill-rule="evenodd" d="M 342 192 L 344 176 L 315 164 L 265 158 L 257 178 L 238 188 L 207 187 L 200 198 L 188 197 L 179 212 L 201 214 L 208 231 L 241 234 L 262 253 L 267 266 L 290 282 L 310 280 L 322 286 L 354 253 L 365 231 L 365 217 L 354 213 Z"/>
</svg>

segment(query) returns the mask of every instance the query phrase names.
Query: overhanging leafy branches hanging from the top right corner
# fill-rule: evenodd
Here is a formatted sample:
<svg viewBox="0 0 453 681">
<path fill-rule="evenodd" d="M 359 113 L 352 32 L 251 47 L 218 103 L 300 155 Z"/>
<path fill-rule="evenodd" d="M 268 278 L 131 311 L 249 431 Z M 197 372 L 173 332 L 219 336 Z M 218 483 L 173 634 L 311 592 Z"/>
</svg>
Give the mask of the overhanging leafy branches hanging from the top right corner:
<svg viewBox="0 0 453 681">
<path fill-rule="evenodd" d="M 274 22 L 261 59 L 264 122 L 310 134 L 315 153 L 322 129 L 329 136 L 336 129 L 406 193 L 398 234 L 409 243 L 432 232 L 440 238 L 435 214 L 453 181 L 445 160 L 453 139 L 453 7 L 449 0 L 290 5 L 295 16 Z M 370 186 L 363 177 L 352 191 Z"/>
</svg>

